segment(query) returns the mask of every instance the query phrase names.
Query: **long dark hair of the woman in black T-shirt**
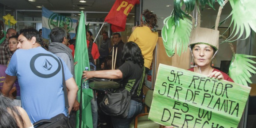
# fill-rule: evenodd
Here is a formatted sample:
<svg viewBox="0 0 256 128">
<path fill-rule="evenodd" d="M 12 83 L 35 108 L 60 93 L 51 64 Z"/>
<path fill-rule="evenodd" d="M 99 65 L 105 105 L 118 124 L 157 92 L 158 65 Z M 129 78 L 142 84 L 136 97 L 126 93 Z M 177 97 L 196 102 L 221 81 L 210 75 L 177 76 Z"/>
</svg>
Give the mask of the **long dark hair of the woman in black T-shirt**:
<svg viewBox="0 0 256 128">
<path fill-rule="evenodd" d="M 122 51 L 122 59 L 124 61 L 130 60 L 133 63 L 138 63 L 140 67 L 143 67 L 144 65 L 144 58 L 141 54 L 141 49 L 140 47 L 132 42 L 129 41 L 124 44 L 124 49 Z"/>
</svg>

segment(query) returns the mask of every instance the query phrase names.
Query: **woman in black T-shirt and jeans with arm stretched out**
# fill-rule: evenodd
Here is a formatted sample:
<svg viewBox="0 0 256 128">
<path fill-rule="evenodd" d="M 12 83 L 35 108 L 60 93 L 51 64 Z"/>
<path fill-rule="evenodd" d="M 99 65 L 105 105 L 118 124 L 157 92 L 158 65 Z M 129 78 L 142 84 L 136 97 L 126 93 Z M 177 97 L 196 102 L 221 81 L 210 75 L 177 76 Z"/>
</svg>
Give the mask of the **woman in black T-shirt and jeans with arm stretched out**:
<svg viewBox="0 0 256 128">
<path fill-rule="evenodd" d="M 129 92 L 134 91 L 131 95 L 130 108 L 126 118 L 112 117 L 112 124 L 114 128 L 129 128 L 129 124 L 142 110 L 142 83 L 144 75 L 144 59 L 141 54 L 139 46 L 134 42 L 124 44 L 122 52 L 122 59 L 125 63 L 116 70 L 102 70 L 102 71 L 84 71 L 83 78 L 88 80 L 93 77 L 105 79 L 122 79 L 122 87 Z M 139 82 L 139 86 L 135 85 Z"/>
</svg>

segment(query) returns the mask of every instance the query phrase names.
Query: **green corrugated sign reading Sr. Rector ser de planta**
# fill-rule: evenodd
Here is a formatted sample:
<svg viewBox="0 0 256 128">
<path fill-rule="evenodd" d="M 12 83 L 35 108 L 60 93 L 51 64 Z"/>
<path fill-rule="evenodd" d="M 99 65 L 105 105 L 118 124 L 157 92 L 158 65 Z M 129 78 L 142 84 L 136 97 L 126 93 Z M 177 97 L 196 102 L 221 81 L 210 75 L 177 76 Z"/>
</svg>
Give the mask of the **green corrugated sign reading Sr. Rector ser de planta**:
<svg viewBox="0 0 256 128">
<path fill-rule="evenodd" d="M 174 128 L 237 128 L 250 90 L 160 64 L 148 118 Z"/>
</svg>

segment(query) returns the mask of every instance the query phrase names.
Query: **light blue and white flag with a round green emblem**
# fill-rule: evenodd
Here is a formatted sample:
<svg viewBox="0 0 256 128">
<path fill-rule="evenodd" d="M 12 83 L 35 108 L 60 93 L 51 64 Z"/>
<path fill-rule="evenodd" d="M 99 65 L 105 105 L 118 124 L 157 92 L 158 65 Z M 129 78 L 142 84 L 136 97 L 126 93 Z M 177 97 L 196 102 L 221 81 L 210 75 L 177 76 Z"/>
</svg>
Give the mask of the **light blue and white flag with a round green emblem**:
<svg viewBox="0 0 256 128">
<path fill-rule="evenodd" d="M 63 27 L 70 34 L 71 39 L 75 37 L 76 19 L 54 13 L 43 7 L 42 22 L 42 36 L 44 39 L 49 39 L 49 34 L 54 27 Z"/>
</svg>

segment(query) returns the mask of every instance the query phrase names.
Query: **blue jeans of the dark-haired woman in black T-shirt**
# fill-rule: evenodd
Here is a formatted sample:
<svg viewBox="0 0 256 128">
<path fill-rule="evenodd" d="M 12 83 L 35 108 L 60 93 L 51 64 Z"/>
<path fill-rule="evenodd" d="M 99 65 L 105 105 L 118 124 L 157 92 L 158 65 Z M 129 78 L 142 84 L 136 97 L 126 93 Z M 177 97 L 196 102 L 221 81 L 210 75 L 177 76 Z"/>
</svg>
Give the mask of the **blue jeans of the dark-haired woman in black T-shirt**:
<svg viewBox="0 0 256 128">
<path fill-rule="evenodd" d="M 130 108 L 126 118 L 111 117 L 113 128 L 129 128 L 129 125 L 138 114 L 141 113 L 142 103 L 135 100 L 130 101 Z"/>
</svg>

